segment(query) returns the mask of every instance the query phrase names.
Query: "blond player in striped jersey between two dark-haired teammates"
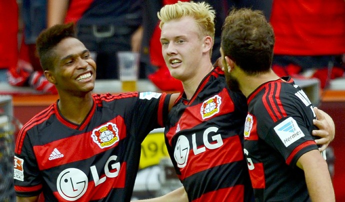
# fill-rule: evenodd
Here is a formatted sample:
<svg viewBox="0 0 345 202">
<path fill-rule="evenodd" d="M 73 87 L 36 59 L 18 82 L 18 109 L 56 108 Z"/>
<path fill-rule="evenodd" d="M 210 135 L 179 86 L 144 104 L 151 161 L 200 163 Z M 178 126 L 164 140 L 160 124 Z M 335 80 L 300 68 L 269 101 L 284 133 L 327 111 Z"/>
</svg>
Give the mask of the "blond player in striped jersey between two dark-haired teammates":
<svg viewBox="0 0 345 202">
<path fill-rule="evenodd" d="M 188 201 L 252 201 L 242 145 L 246 100 L 227 88 L 224 72 L 211 63 L 214 10 L 205 2 L 179 1 L 162 7 L 158 18 L 162 55 L 184 89 L 164 134 Z"/>
</svg>

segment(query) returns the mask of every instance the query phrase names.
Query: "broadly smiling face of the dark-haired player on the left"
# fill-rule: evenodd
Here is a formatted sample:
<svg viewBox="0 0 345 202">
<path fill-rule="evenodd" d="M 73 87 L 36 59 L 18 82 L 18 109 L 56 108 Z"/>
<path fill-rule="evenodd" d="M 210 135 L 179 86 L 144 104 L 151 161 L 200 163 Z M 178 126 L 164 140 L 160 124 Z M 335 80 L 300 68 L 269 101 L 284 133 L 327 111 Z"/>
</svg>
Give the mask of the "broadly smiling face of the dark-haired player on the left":
<svg viewBox="0 0 345 202">
<path fill-rule="evenodd" d="M 56 57 L 51 71 L 59 93 L 87 93 L 93 90 L 96 64 L 90 52 L 76 38 L 65 38 L 54 48 Z"/>
</svg>

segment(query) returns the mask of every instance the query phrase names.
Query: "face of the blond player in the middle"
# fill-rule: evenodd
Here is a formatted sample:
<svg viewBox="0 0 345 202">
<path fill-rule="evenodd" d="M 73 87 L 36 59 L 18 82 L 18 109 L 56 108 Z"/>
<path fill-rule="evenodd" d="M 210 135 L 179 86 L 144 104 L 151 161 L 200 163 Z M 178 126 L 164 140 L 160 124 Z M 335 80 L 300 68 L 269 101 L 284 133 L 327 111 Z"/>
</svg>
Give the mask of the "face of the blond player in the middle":
<svg viewBox="0 0 345 202">
<path fill-rule="evenodd" d="M 167 21 L 162 25 L 162 55 L 171 76 L 183 81 L 197 75 L 203 41 L 192 17 Z"/>
</svg>

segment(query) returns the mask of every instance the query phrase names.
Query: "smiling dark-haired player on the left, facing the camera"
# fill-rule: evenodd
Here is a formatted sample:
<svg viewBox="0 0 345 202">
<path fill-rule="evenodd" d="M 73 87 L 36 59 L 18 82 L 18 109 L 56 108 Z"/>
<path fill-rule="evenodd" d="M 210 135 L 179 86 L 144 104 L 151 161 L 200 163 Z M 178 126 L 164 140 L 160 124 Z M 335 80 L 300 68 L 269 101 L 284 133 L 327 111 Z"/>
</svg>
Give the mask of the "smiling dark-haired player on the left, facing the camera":
<svg viewBox="0 0 345 202">
<path fill-rule="evenodd" d="M 37 38 L 44 75 L 59 99 L 21 129 L 15 147 L 17 201 L 129 202 L 141 142 L 163 126 L 165 93 L 92 94 L 96 65 L 73 24 Z M 173 99 L 171 99 L 173 101 Z"/>
</svg>

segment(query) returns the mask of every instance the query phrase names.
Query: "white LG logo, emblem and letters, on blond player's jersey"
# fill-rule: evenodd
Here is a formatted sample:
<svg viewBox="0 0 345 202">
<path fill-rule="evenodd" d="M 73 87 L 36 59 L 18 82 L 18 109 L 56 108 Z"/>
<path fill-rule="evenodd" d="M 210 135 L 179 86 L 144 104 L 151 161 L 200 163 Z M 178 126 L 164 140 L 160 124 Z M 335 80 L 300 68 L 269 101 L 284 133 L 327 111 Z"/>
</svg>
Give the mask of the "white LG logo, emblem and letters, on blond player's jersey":
<svg viewBox="0 0 345 202">
<path fill-rule="evenodd" d="M 216 134 L 218 131 L 218 128 L 216 127 L 209 127 L 207 128 L 202 135 L 202 141 L 204 146 L 203 147 L 197 147 L 196 145 L 196 134 L 191 135 L 192 139 L 192 148 L 194 155 L 198 155 L 200 153 L 203 153 L 207 149 L 217 149 L 223 145 L 223 140 L 221 139 L 220 134 Z M 210 143 L 208 141 L 208 136 L 210 133 L 213 133 L 211 136 L 212 142 Z M 198 136 L 199 137 L 199 136 Z M 184 135 L 180 135 L 177 139 L 176 146 L 174 149 L 174 159 L 177 163 L 178 168 L 184 168 L 188 161 L 188 155 L 189 155 L 189 141 Z"/>
</svg>

